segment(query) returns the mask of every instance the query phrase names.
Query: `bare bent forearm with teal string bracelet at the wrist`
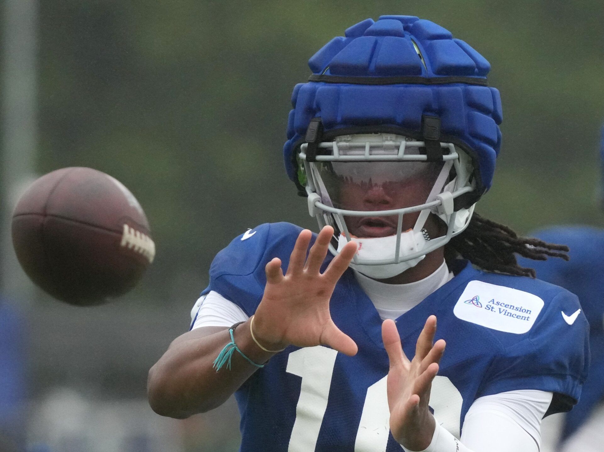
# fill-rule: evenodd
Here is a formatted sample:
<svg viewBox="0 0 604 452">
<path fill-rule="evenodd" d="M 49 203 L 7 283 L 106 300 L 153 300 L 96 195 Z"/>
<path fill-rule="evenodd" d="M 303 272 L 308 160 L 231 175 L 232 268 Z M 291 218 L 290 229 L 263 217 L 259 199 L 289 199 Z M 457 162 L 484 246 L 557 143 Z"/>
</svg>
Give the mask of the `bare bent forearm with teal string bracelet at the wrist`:
<svg viewBox="0 0 604 452">
<path fill-rule="evenodd" d="M 254 344 L 248 322 L 236 328 L 234 338 L 255 363 L 264 363 L 272 356 Z M 234 352 L 231 369 L 223 366 L 216 372 L 214 360 L 230 340 L 228 329 L 204 337 L 196 337 L 192 331 L 175 340 L 149 371 L 147 391 L 153 410 L 182 419 L 223 404 L 257 370 Z"/>
</svg>

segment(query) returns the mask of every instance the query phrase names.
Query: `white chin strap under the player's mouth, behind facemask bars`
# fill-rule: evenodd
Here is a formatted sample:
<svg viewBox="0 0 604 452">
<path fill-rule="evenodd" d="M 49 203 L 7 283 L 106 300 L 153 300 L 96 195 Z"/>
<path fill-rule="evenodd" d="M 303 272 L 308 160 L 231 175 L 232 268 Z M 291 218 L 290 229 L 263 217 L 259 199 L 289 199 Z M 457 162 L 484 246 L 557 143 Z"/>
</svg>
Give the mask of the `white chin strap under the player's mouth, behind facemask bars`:
<svg viewBox="0 0 604 452">
<path fill-rule="evenodd" d="M 449 176 L 449 171 L 451 170 L 452 164 L 452 161 L 447 161 L 443 165 L 442 169 L 440 170 L 440 174 L 434 182 L 434 186 L 432 186 L 432 190 L 426 199 L 426 204 L 434 201 L 436 196 L 445 186 L 445 181 Z M 411 254 L 417 253 L 417 251 L 421 251 L 423 249 L 426 244 L 424 225 L 430 213 L 431 210 L 428 208 L 420 211 L 420 215 L 417 217 L 417 221 L 413 229 L 400 232 L 400 248 L 399 256 L 397 256 L 399 259 L 405 259 L 405 256 L 410 256 Z M 427 231 L 425 232 L 427 234 Z M 398 231 L 397 234 L 399 234 Z M 367 260 L 379 261 L 384 260 L 385 257 L 393 255 L 393 250 L 396 250 L 397 234 L 387 237 L 351 237 L 351 240 L 358 243 L 356 254 L 359 259 L 362 259 L 365 262 Z M 342 250 L 342 248 L 344 248 L 344 245 L 347 244 L 347 242 L 347 237 L 345 237 L 344 234 L 340 234 L 338 237 L 338 253 Z M 425 254 L 423 256 L 416 257 L 415 259 L 402 260 L 402 262 L 399 263 L 374 265 L 351 262 L 350 266 L 365 276 L 375 279 L 385 279 L 401 274 L 403 271 L 416 266 L 424 257 L 426 257 Z"/>
</svg>

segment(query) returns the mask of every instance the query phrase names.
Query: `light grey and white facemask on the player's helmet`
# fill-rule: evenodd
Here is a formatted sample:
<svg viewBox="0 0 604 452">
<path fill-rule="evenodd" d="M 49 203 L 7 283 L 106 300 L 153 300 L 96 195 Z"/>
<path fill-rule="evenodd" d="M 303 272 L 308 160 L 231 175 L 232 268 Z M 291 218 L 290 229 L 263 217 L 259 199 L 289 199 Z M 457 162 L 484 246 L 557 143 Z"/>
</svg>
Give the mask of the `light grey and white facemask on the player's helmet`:
<svg viewBox="0 0 604 452">
<path fill-rule="evenodd" d="M 329 250 L 337 255 L 347 243 L 349 234 L 345 225 L 346 216 L 365 216 L 371 211 L 372 216 L 399 216 L 399 228 L 402 216 L 420 212 L 413 230 L 396 231 L 387 237 L 358 238 L 350 235 L 350 240 L 359 244 L 355 259 L 350 264 L 355 270 L 374 279 L 386 279 L 416 266 L 426 254 L 443 247 L 451 237 L 461 233 L 472 218 L 474 205 L 469 208 L 454 210 L 454 201 L 458 196 L 474 190 L 472 181 L 471 158 L 452 143 L 441 143 L 444 164 L 437 178 L 432 182 L 432 189 L 422 204 L 413 207 L 400 207 L 392 210 L 346 210 L 344 203 L 339 204 L 338 183 L 340 181 L 355 181 L 371 186 L 388 181 L 404 181 L 413 179 L 426 162 L 420 149 L 423 141 L 408 140 L 399 135 L 389 134 L 358 134 L 336 137 L 334 141 L 320 143 L 321 149 L 330 152 L 316 156 L 316 161 L 306 161 L 306 145 L 301 146 L 300 159 L 304 164 L 304 172 L 308 176 L 306 193 L 308 195 L 309 213 L 320 225 L 332 225 L 338 236 L 336 244 L 330 244 Z M 403 152 L 404 151 L 404 152 Z M 422 160 L 423 159 L 423 160 Z M 332 163 L 332 166 L 325 163 Z M 348 162 L 373 162 L 373 166 L 353 165 L 344 166 Z M 410 163 L 400 164 L 401 162 Z M 423 163 L 422 163 L 423 162 Z M 336 166 L 336 164 L 338 164 Z M 383 168 L 382 168 L 383 166 Z M 451 169 L 455 169 L 455 177 L 448 181 Z M 372 172 L 365 174 L 364 169 Z M 376 173 L 376 176 L 373 176 Z M 432 177 L 435 173 L 431 173 Z M 369 178 L 371 176 L 371 178 Z M 382 181 L 382 179 L 384 181 Z M 335 196 L 332 196 L 335 195 Z M 387 213 L 384 213 L 387 212 Z M 446 233 L 439 237 L 426 237 L 422 233 L 429 214 L 439 216 L 446 225 Z M 359 215 L 360 214 L 360 215 Z M 400 236 L 400 248 L 396 256 L 397 236 Z"/>
</svg>

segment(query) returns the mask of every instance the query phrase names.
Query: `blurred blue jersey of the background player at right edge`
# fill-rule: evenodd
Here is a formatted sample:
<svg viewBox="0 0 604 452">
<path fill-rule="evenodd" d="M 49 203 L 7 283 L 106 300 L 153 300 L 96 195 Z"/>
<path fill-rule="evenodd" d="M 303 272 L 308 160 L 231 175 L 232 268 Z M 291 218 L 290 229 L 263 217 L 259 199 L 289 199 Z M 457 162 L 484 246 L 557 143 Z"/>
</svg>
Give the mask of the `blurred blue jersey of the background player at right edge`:
<svg viewBox="0 0 604 452">
<path fill-rule="evenodd" d="M 577 430 L 604 398 L 604 230 L 559 226 L 532 235 L 545 242 L 568 245 L 571 259 L 569 262 L 521 259 L 519 263 L 535 268 L 539 279 L 576 294 L 590 323 L 590 377 L 583 386 L 579 404 L 565 418 L 564 439 Z"/>
</svg>

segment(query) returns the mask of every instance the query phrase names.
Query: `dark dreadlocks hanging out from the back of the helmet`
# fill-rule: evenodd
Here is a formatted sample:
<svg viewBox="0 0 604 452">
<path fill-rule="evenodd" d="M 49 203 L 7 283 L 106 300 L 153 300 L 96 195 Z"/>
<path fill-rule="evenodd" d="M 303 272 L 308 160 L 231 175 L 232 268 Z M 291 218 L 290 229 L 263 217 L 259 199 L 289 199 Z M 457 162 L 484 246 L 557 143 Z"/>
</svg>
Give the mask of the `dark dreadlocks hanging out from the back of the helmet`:
<svg viewBox="0 0 604 452">
<path fill-rule="evenodd" d="M 466 230 L 445 245 L 449 264 L 459 256 L 482 270 L 512 276 L 535 277 L 535 270 L 518 265 L 516 254 L 533 260 L 561 257 L 568 260 L 566 245 L 548 244 L 539 239 L 518 237 L 513 230 L 474 213 Z"/>
</svg>

